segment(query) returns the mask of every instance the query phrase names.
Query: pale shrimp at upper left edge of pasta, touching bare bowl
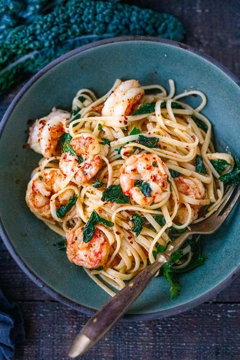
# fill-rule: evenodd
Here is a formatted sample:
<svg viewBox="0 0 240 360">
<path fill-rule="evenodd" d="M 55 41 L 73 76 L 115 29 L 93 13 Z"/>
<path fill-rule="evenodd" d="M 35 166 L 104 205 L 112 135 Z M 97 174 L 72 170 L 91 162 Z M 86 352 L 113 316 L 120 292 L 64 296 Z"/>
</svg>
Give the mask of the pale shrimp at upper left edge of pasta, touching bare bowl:
<svg viewBox="0 0 240 360">
<path fill-rule="evenodd" d="M 69 112 L 54 108 L 49 115 L 37 119 L 29 129 L 27 143 L 30 148 L 44 157 L 60 154 L 58 140 L 64 133 L 64 125 L 69 118 Z"/>
</svg>

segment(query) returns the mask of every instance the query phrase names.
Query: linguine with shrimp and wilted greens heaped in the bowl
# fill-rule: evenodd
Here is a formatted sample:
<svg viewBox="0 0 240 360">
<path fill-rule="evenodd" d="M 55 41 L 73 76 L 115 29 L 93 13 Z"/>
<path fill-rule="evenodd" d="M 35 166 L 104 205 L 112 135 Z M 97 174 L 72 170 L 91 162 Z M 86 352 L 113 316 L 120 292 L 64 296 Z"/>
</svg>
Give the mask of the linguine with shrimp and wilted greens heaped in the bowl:
<svg viewBox="0 0 240 360">
<path fill-rule="evenodd" d="M 216 211 L 224 185 L 231 185 L 226 178 L 236 161 L 215 151 L 211 123 L 201 113 L 205 94 L 175 95 L 171 79 L 169 87 L 167 93 L 161 85 L 117 79 L 101 98 L 81 89 L 71 113 L 53 108 L 29 129 L 28 145 L 43 157 L 26 203 L 66 238 L 68 260 L 111 296 L 191 223 Z M 201 104 L 182 102 L 189 96 Z M 172 272 L 188 269 L 194 256 L 189 241 Z M 175 297 L 176 283 L 165 275 Z"/>
</svg>

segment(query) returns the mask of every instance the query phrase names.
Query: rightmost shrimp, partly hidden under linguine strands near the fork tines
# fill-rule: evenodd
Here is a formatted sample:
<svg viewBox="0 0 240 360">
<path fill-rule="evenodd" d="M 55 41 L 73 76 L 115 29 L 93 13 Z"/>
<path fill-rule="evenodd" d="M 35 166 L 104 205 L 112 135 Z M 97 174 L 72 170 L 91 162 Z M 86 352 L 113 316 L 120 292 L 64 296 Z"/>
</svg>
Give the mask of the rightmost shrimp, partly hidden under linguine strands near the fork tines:
<svg viewBox="0 0 240 360">
<path fill-rule="evenodd" d="M 193 199 L 202 199 L 205 196 L 205 188 L 201 181 L 197 179 L 191 178 L 187 179 L 183 176 L 176 177 L 174 179 L 175 184 L 177 186 L 177 190 L 184 195 L 190 196 Z M 191 207 L 191 221 L 197 219 L 198 211 L 200 209 L 200 205 L 192 205 L 189 204 Z M 188 218 L 188 210 L 184 206 L 184 204 L 180 204 L 177 215 L 175 217 L 175 221 L 179 222 L 180 224 L 186 223 Z"/>
</svg>

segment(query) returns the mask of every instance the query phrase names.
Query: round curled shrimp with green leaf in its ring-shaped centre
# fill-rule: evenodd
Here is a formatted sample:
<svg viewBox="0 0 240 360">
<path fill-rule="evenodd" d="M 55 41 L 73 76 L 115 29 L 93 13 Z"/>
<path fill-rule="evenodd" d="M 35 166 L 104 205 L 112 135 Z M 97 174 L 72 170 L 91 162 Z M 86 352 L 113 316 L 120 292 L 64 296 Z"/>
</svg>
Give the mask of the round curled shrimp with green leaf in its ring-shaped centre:
<svg viewBox="0 0 240 360">
<path fill-rule="evenodd" d="M 159 203 L 165 192 L 170 192 L 168 181 L 171 177 L 167 166 L 155 154 L 141 153 L 131 155 L 123 164 L 120 184 L 124 194 L 130 195 L 139 205 Z M 150 186 L 149 196 L 144 196 L 141 189 L 135 185 L 137 180 L 143 180 Z"/>
</svg>

